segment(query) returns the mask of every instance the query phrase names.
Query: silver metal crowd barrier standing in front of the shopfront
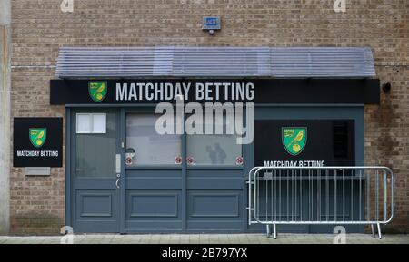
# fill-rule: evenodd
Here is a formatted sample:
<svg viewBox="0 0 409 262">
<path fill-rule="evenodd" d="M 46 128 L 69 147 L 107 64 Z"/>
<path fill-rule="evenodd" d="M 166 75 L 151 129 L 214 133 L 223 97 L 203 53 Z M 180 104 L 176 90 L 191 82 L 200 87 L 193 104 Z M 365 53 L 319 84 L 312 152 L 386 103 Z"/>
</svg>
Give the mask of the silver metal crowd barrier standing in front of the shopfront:
<svg viewBox="0 0 409 262">
<path fill-rule="evenodd" d="M 394 173 L 387 167 L 254 167 L 248 174 L 249 225 L 370 225 L 394 216 Z M 273 227 L 273 231 L 272 231 Z"/>
</svg>

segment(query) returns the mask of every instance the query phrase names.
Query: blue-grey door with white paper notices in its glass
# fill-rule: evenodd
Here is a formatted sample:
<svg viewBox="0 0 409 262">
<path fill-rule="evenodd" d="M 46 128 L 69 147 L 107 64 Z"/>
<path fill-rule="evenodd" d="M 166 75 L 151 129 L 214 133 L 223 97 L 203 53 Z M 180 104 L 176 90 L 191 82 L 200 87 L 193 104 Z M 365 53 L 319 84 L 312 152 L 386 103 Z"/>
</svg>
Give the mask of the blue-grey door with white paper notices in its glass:
<svg viewBox="0 0 409 262">
<path fill-rule="evenodd" d="M 71 221 L 75 232 L 120 231 L 119 111 L 71 111 Z"/>
</svg>

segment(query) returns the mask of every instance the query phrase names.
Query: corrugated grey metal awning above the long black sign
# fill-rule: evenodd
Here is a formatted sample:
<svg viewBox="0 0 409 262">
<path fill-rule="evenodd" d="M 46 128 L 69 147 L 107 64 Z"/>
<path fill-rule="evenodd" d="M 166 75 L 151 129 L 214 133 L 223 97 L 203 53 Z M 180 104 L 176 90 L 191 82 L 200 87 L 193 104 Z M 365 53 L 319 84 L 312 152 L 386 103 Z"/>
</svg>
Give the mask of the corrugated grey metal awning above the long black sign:
<svg viewBox="0 0 409 262">
<path fill-rule="evenodd" d="M 374 77 L 367 47 L 63 47 L 60 78 Z"/>
</svg>

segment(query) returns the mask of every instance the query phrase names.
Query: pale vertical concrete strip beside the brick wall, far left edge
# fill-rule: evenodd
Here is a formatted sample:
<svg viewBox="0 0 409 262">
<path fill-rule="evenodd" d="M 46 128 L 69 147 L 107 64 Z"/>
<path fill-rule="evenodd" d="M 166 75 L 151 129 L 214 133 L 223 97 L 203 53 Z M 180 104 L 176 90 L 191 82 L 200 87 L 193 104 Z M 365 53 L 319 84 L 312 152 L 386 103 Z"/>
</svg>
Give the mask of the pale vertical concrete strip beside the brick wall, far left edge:
<svg viewBox="0 0 409 262">
<path fill-rule="evenodd" d="M 10 230 L 11 0 L 0 1 L 0 234 Z"/>
</svg>

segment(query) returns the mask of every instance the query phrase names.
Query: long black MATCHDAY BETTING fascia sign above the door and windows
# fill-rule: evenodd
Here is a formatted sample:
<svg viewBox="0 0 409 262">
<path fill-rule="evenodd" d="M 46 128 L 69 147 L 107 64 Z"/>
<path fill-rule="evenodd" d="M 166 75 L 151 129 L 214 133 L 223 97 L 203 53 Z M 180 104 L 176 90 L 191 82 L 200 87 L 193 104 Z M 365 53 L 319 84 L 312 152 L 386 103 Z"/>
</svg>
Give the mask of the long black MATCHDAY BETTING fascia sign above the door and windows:
<svg viewBox="0 0 409 262">
<path fill-rule="evenodd" d="M 109 79 L 50 81 L 50 104 L 379 103 L 377 79 Z"/>
</svg>

